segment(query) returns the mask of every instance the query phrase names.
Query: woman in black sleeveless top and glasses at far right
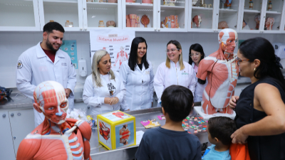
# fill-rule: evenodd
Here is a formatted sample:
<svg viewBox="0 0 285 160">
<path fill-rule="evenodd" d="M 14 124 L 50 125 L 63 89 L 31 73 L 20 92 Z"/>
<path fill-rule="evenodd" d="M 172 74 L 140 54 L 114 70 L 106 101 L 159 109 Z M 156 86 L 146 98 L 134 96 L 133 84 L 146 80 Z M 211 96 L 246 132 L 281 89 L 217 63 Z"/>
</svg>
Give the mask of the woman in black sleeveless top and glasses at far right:
<svg viewBox="0 0 285 160">
<path fill-rule="evenodd" d="M 285 80 L 280 58 L 264 38 L 244 41 L 237 52 L 240 74 L 252 80 L 241 95 L 232 96 L 237 131 L 233 143 L 247 143 L 255 159 L 285 159 Z"/>
</svg>

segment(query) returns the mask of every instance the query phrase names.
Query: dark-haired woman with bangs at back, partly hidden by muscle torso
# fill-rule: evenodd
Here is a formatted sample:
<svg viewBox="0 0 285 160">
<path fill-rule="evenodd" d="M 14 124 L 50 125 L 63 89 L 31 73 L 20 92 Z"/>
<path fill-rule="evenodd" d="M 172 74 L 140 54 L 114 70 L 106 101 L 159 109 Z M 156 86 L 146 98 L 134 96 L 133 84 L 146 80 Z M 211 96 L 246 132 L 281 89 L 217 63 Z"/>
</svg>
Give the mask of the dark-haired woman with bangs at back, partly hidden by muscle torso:
<svg viewBox="0 0 285 160">
<path fill-rule="evenodd" d="M 192 44 L 189 49 L 189 64 L 192 65 L 192 67 L 195 70 L 195 73 L 198 72 L 199 63 L 202 59 L 204 59 L 204 50 L 202 46 L 198 43 Z M 197 84 L 195 87 L 195 95 L 194 95 L 194 102 L 201 102 L 202 101 L 202 95 L 204 91 L 204 87 L 208 84 L 207 79 L 206 80 L 200 80 L 197 78 Z"/>
</svg>

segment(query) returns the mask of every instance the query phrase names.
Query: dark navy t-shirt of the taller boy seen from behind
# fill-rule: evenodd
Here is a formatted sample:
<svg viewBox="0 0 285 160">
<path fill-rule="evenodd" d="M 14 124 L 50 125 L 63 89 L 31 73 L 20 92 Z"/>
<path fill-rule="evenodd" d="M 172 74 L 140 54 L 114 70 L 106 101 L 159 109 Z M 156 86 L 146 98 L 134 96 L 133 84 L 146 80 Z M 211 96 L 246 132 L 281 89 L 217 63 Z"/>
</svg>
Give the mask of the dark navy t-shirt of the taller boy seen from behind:
<svg viewBox="0 0 285 160">
<path fill-rule="evenodd" d="M 142 136 L 135 158 L 201 160 L 201 144 L 195 135 L 187 131 L 177 132 L 162 127 L 148 129 Z"/>
</svg>

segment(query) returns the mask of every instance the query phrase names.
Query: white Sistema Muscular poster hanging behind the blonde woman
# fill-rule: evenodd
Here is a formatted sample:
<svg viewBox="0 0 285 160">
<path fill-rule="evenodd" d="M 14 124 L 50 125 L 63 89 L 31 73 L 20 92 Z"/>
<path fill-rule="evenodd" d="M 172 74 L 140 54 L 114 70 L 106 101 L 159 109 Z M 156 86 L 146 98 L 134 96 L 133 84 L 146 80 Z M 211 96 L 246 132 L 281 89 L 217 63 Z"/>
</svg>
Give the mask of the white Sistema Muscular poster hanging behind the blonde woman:
<svg viewBox="0 0 285 160">
<path fill-rule="evenodd" d="M 107 50 L 110 53 L 111 69 L 119 72 L 120 65 L 130 57 L 133 38 L 135 38 L 135 31 L 130 30 L 90 30 L 91 64 L 97 50 Z"/>
</svg>

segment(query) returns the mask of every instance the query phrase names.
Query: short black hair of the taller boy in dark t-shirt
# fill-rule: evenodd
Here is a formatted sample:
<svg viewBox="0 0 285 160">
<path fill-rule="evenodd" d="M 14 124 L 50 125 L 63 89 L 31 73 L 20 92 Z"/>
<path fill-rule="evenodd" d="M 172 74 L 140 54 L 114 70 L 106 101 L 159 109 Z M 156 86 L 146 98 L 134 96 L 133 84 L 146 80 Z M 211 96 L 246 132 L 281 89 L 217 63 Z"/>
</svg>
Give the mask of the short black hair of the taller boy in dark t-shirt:
<svg viewBox="0 0 285 160">
<path fill-rule="evenodd" d="M 193 94 L 187 87 L 171 85 L 163 91 L 161 105 L 172 121 L 181 122 L 192 111 Z"/>
</svg>

